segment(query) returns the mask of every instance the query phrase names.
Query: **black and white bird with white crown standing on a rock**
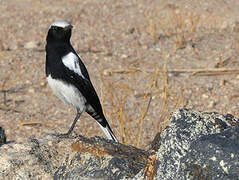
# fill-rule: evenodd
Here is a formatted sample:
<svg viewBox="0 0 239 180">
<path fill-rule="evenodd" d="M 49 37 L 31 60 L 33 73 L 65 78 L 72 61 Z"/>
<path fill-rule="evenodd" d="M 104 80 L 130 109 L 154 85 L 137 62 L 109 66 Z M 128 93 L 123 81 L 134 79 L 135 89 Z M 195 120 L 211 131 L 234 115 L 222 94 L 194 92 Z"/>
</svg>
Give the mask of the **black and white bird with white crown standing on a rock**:
<svg viewBox="0 0 239 180">
<path fill-rule="evenodd" d="M 46 39 L 48 84 L 58 98 L 77 110 L 69 131 L 60 136 L 70 135 L 77 120 L 86 111 L 97 121 L 108 139 L 118 142 L 103 114 L 87 69 L 70 43 L 71 31 L 70 23 L 57 21 L 51 24 Z"/>
</svg>

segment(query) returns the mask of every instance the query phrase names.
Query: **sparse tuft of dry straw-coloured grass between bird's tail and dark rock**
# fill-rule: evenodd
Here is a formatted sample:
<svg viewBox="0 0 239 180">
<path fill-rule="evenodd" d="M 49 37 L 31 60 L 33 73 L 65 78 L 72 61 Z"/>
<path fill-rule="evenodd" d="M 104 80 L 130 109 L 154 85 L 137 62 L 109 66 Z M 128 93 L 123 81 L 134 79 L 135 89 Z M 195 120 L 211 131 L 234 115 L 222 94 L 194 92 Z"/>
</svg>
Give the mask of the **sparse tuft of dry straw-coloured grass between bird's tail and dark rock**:
<svg viewBox="0 0 239 180">
<path fill-rule="evenodd" d="M 169 86 L 167 58 L 165 57 L 163 67 L 155 66 L 156 68 L 152 73 L 134 70 L 133 68 L 102 72 L 102 104 L 108 104 L 110 107 L 107 108 L 107 117 L 114 121 L 113 124 L 118 125 L 119 132 L 117 132 L 117 135 L 122 143 L 145 148 L 143 135 L 146 134 L 146 129 L 152 129 L 152 134 L 155 135 L 170 124 L 171 110 L 183 107 L 183 94 L 174 94 Z M 127 83 L 115 81 L 115 78 L 119 76 L 122 79 L 127 79 Z M 147 79 L 148 84 L 145 85 L 145 88 L 137 87 L 139 78 Z M 103 91 L 103 87 L 105 91 Z M 132 102 L 132 99 L 135 102 Z M 152 107 L 152 102 L 161 105 L 160 107 Z M 130 107 L 130 105 L 129 110 L 127 107 Z M 152 119 L 153 117 L 149 113 L 155 111 L 156 108 L 160 108 L 160 116 L 157 119 Z M 103 109 L 106 109 L 105 106 L 103 106 Z M 152 123 L 153 127 L 149 125 Z"/>
</svg>

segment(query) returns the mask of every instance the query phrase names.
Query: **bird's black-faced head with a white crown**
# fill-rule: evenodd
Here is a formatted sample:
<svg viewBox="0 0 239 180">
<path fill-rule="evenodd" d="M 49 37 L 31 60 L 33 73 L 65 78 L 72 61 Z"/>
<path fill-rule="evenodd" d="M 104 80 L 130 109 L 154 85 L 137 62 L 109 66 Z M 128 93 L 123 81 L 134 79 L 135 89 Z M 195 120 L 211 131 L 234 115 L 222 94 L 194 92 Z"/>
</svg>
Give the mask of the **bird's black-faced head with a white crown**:
<svg viewBox="0 0 239 180">
<path fill-rule="evenodd" d="M 48 30 L 47 42 L 70 42 L 72 28 L 73 26 L 67 21 L 56 21 L 52 23 Z"/>
</svg>

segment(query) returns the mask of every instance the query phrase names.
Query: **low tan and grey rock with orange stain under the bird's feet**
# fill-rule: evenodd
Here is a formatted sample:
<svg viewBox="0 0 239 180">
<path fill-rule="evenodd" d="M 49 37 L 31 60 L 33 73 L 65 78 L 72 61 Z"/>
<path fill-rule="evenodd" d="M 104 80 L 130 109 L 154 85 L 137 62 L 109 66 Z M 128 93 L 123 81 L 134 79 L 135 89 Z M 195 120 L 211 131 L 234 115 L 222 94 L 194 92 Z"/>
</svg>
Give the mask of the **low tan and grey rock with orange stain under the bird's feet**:
<svg viewBox="0 0 239 180">
<path fill-rule="evenodd" d="M 8 179 L 123 179 L 137 174 L 148 153 L 100 137 L 46 136 L 0 149 L 0 177 Z"/>
</svg>

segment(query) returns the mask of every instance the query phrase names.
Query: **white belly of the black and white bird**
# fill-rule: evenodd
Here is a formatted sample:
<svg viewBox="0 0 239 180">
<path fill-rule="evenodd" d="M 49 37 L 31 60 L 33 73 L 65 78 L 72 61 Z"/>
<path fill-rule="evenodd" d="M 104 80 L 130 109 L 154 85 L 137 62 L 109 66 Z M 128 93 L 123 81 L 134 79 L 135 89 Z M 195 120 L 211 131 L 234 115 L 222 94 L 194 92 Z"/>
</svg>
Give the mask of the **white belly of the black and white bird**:
<svg viewBox="0 0 239 180">
<path fill-rule="evenodd" d="M 47 81 L 52 91 L 60 100 L 74 106 L 81 112 L 85 110 L 86 99 L 77 88 L 62 81 L 52 79 L 51 75 L 47 77 Z"/>
</svg>

